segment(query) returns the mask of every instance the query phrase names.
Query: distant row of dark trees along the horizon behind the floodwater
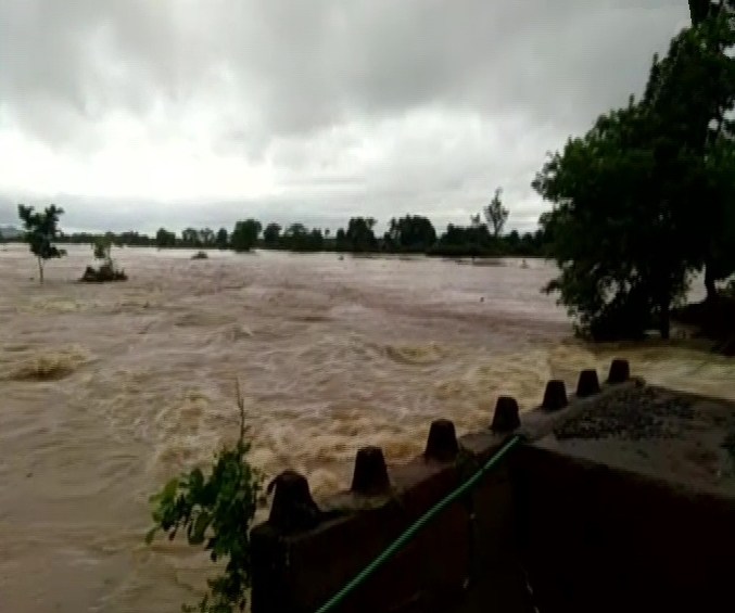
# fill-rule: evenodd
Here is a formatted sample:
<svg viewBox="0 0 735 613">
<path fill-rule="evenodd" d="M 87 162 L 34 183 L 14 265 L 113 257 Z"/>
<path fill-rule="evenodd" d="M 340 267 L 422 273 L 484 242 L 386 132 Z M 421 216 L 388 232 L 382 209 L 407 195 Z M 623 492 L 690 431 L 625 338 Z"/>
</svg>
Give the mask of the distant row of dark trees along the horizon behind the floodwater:
<svg viewBox="0 0 735 613">
<path fill-rule="evenodd" d="M 544 255 L 545 237 L 542 230 L 504 233 L 508 209 L 500 200 L 500 190 L 491 203 L 473 215 L 467 226 L 449 224 L 438 233 L 428 217 L 405 215 L 390 220 L 388 230 L 376 233 L 376 219 L 353 217 L 346 228 L 332 233 L 329 229 L 307 228 L 303 224 L 281 226 L 263 225 L 257 219 L 238 221 L 231 230 L 219 228 L 186 228 L 179 234 L 160 228 L 155 235 L 127 232 L 59 233 L 62 244 L 94 244 L 104 238 L 116 246 L 153 246 L 157 248 L 218 248 L 242 253 L 252 248 L 291 252 L 341 252 L 362 254 L 426 254 L 444 257 L 533 257 Z M 23 240 L 21 235 L 13 240 Z"/>
</svg>

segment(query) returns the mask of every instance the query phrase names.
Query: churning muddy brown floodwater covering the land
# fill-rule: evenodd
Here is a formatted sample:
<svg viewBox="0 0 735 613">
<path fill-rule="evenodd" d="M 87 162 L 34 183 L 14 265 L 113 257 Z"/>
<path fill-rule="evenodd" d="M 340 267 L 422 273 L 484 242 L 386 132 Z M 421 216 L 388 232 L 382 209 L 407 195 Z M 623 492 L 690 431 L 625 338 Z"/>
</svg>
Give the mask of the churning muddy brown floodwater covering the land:
<svg viewBox="0 0 735 613">
<path fill-rule="evenodd" d="M 358 447 L 422 450 L 432 419 L 486 426 L 498 394 L 604 374 L 613 355 L 677 388 L 735 397 L 733 361 L 675 345 L 596 349 L 569 339 L 554 270 L 123 248 L 127 283 L 74 283 L 91 250 L 47 266 L 0 251 L 0 611 L 163 613 L 208 562 L 143 544 L 148 497 L 238 431 L 236 380 L 266 475 L 315 494 L 349 485 Z"/>
</svg>

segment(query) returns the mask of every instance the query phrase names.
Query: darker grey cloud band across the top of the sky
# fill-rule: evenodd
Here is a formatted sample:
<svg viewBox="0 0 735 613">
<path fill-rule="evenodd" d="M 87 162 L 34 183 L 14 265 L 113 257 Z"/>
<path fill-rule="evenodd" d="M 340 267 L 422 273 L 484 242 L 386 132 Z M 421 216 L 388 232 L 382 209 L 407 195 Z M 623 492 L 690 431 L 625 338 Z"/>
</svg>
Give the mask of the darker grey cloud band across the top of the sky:
<svg viewBox="0 0 735 613">
<path fill-rule="evenodd" d="M 671 0 L 4 0 L 0 11 L 3 103 L 26 123 L 48 116 L 29 99 L 81 117 L 142 113 L 225 72 L 243 108 L 286 135 L 430 103 L 586 120 L 641 88 L 687 16 Z"/>
</svg>

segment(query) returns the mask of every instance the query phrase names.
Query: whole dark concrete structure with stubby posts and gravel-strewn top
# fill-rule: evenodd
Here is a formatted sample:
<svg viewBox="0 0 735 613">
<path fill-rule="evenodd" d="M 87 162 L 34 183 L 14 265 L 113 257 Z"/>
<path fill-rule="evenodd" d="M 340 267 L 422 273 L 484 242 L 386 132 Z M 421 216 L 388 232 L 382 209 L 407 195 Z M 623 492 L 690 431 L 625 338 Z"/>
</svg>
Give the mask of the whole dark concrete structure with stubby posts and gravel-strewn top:
<svg viewBox="0 0 735 613">
<path fill-rule="evenodd" d="M 732 601 L 735 480 L 723 445 L 735 405 L 617 367 L 614 384 L 581 373 L 569 398 L 549 382 L 521 416 L 531 442 L 332 611 L 649 613 Z M 384 468 L 379 450 L 363 450 L 352 490 L 320 501 L 327 514 L 311 527 L 283 523 L 299 508 L 313 520 L 309 500 L 286 515 L 274 508 L 253 531 L 253 613 L 316 611 L 495 454 L 518 425 L 512 407 L 498 403 L 500 432 L 456 439 L 435 422 L 427 452 L 406 464 Z"/>
</svg>

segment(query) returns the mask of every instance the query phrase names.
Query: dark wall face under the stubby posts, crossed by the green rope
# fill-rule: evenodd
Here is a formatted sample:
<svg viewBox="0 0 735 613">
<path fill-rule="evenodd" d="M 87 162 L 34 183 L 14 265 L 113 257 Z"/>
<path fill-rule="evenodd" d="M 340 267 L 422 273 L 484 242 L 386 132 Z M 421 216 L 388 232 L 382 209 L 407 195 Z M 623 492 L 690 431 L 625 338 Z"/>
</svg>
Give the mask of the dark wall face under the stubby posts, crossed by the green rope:
<svg viewBox="0 0 735 613">
<path fill-rule="evenodd" d="M 459 444 L 472 448 L 470 461 L 480 462 L 503 439 L 486 432 L 462 437 Z M 460 485 L 469 476 L 466 461 L 457 462 L 456 454 L 445 459 L 417 458 L 390 467 L 390 489 L 373 495 L 350 491 L 325 500 L 321 507 L 339 509 L 343 513 L 339 516 L 327 514 L 304 531 L 278 522 L 256 527 L 252 534 L 253 613 L 316 611 Z M 295 482 L 299 477 L 290 474 L 288 478 Z M 473 578 L 480 580 L 497 564 L 498 555 L 512 554 L 511 521 L 506 465 L 493 471 L 471 497 L 444 509 L 334 611 L 446 611 L 462 600 Z M 520 587 L 504 580 L 496 598 L 517 601 Z M 508 591 L 512 596 L 506 597 Z"/>
</svg>

